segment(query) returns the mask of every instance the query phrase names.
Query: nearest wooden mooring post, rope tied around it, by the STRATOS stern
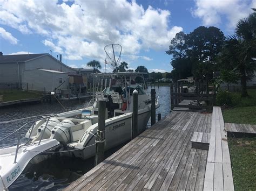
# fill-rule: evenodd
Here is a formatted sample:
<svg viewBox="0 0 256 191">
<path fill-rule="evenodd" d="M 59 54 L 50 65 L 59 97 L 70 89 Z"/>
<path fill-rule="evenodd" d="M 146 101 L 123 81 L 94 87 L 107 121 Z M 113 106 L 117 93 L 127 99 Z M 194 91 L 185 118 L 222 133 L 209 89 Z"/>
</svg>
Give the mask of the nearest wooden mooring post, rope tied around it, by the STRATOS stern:
<svg viewBox="0 0 256 191">
<path fill-rule="evenodd" d="M 106 101 L 99 101 L 98 129 L 96 135 L 95 166 L 104 160 Z"/>
</svg>

